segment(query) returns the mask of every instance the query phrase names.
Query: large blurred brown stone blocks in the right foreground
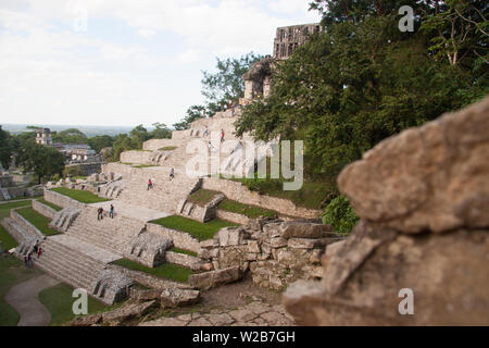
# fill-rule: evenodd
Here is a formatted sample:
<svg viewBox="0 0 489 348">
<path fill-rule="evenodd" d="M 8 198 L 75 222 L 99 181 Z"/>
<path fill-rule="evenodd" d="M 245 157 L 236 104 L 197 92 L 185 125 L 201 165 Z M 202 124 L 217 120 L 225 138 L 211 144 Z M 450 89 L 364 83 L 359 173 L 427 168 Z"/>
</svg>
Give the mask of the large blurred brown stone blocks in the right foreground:
<svg viewBox="0 0 489 348">
<path fill-rule="evenodd" d="M 327 247 L 321 282 L 288 287 L 299 325 L 489 325 L 488 130 L 489 97 L 341 173 L 362 220 Z"/>
</svg>

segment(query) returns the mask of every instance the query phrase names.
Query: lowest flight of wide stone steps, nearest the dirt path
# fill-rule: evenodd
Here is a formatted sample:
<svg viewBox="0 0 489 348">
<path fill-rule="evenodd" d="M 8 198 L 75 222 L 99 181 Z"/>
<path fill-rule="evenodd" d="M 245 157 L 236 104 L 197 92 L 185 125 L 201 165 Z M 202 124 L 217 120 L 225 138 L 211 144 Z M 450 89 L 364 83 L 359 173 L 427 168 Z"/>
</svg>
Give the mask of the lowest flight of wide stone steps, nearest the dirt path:
<svg viewBox="0 0 489 348">
<path fill-rule="evenodd" d="M 55 278 L 75 288 L 91 291 L 91 285 L 97 279 L 105 264 L 96 261 L 82 252 L 70 249 L 49 238 L 42 244 L 42 254 L 38 259 L 33 256 L 34 264 Z"/>
</svg>

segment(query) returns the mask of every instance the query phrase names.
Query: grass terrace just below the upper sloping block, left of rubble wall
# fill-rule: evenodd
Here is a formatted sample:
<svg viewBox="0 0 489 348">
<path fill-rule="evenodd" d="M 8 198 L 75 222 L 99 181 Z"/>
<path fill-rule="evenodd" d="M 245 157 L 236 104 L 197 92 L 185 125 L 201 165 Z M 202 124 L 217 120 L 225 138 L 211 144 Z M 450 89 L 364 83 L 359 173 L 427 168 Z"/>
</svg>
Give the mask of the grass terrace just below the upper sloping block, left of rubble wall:
<svg viewBox="0 0 489 348">
<path fill-rule="evenodd" d="M 187 232 L 199 240 L 211 239 L 221 228 L 228 226 L 239 226 L 229 221 L 214 219 L 206 223 L 201 223 L 184 216 L 172 215 L 159 220 L 151 221 L 154 224 L 162 225 L 167 228 Z"/>
</svg>

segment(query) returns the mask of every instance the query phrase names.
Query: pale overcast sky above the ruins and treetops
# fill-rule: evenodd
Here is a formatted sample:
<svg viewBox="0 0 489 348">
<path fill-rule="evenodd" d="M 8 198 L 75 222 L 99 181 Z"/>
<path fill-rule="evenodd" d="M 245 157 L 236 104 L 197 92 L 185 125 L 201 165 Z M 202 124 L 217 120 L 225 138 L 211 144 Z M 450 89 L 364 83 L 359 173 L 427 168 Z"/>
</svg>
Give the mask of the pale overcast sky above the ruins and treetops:
<svg viewBox="0 0 489 348">
<path fill-rule="evenodd" d="M 0 124 L 168 126 L 215 57 L 272 54 L 309 0 L 0 0 Z"/>
</svg>

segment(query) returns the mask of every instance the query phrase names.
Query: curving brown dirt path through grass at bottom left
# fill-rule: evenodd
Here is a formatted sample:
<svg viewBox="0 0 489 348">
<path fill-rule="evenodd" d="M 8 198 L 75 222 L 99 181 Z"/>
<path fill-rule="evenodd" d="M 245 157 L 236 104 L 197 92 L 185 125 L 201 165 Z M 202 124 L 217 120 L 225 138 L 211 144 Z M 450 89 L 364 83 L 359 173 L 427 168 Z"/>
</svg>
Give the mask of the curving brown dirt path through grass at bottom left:
<svg viewBox="0 0 489 348">
<path fill-rule="evenodd" d="M 5 295 L 5 301 L 21 315 L 17 326 L 46 326 L 51 321 L 51 314 L 39 302 L 39 291 L 53 287 L 59 282 L 48 275 L 37 276 L 12 287 Z"/>
</svg>

